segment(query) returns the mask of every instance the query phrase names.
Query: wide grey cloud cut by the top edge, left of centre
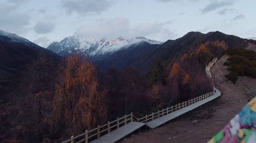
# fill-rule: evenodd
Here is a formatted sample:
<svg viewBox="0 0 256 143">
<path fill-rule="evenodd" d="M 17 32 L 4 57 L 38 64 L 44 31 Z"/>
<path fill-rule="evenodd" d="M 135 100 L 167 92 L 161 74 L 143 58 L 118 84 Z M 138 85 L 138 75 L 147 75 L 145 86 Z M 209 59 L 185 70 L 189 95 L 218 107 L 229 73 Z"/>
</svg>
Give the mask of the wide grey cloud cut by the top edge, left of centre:
<svg viewBox="0 0 256 143">
<path fill-rule="evenodd" d="M 98 14 L 106 11 L 113 3 L 113 0 L 62 0 L 61 6 L 70 14 L 73 12 Z"/>
</svg>

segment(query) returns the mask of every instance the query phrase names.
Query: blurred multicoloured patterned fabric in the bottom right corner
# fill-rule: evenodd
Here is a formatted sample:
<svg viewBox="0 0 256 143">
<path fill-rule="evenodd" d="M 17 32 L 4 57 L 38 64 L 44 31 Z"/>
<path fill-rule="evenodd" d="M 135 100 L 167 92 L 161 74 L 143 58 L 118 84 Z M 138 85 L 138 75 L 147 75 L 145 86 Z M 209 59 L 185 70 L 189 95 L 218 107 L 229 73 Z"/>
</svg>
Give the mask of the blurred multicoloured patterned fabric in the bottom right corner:
<svg viewBox="0 0 256 143">
<path fill-rule="evenodd" d="M 208 143 L 256 143 L 256 97 Z"/>
</svg>

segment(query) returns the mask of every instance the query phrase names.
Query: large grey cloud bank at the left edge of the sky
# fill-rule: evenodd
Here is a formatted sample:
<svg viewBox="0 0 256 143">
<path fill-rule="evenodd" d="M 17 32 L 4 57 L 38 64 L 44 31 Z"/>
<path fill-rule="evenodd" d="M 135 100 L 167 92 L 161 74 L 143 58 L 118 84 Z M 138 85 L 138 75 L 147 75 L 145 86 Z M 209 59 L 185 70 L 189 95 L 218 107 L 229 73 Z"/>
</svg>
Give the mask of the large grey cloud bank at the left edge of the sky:
<svg viewBox="0 0 256 143">
<path fill-rule="evenodd" d="M 31 16 L 28 13 L 16 12 L 20 4 L 0 3 L 0 5 L 0 27 L 2 30 L 16 34 L 23 34 L 24 31 L 27 31 L 26 26 L 30 24 Z"/>
</svg>

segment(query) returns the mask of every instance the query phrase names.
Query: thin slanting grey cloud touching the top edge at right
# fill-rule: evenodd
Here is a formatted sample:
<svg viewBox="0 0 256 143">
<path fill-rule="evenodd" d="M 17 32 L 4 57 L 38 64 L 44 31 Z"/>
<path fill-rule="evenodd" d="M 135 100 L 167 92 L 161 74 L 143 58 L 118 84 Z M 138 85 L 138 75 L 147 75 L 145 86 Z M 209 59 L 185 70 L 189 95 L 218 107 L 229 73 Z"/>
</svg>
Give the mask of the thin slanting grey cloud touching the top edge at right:
<svg viewBox="0 0 256 143">
<path fill-rule="evenodd" d="M 219 9 L 220 7 L 229 6 L 234 3 L 234 0 L 214 0 L 212 3 L 208 4 L 204 9 L 201 10 L 202 13 L 208 13 L 210 11 Z"/>
</svg>

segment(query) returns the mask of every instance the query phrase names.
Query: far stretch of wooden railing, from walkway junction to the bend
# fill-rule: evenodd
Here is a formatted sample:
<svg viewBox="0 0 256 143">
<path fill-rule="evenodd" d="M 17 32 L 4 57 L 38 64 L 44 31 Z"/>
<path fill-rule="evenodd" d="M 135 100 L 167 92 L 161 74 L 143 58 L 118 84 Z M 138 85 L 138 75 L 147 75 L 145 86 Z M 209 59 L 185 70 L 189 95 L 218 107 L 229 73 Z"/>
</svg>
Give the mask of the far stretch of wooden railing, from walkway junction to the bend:
<svg viewBox="0 0 256 143">
<path fill-rule="evenodd" d="M 212 95 L 213 95 L 213 92 L 206 93 L 205 95 L 198 96 L 196 98 L 190 99 L 189 101 L 185 101 L 185 102 L 176 104 L 175 106 L 171 106 L 169 108 L 162 109 L 161 111 L 152 113 L 150 115 L 146 115 L 145 117 L 138 118 L 137 121 L 141 122 L 141 123 L 147 123 L 148 121 L 153 121 L 156 118 L 162 117 L 164 115 L 170 114 L 170 113 L 177 111 L 179 109 L 182 109 L 184 107 L 192 105 L 195 102 L 201 101 L 201 100 L 208 98 Z"/>
</svg>

